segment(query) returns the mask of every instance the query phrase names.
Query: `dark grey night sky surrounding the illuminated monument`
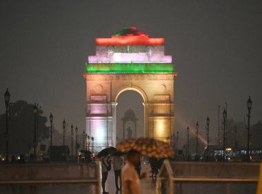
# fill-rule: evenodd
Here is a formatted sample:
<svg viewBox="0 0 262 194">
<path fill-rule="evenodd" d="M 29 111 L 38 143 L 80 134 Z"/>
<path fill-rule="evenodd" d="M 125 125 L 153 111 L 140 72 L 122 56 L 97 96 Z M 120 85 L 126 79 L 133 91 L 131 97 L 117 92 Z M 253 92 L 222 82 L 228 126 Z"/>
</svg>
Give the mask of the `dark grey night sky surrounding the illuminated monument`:
<svg viewBox="0 0 262 194">
<path fill-rule="evenodd" d="M 218 106 L 243 121 L 251 95 L 252 119 L 262 119 L 262 1 L 74 0 L 0 2 L 0 94 L 37 102 L 85 128 L 85 61 L 96 37 L 136 26 L 165 37 L 173 56 L 176 130 L 199 122 L 216 134 Z M 2 96 L 3 97 L 3 96 Z M 4 113 L 2 98 L 0 112 Z M 182 130 L 184 131 L 182 133 Z M 214 139 L 214 135 L 212 136 Z"/>
</svg>

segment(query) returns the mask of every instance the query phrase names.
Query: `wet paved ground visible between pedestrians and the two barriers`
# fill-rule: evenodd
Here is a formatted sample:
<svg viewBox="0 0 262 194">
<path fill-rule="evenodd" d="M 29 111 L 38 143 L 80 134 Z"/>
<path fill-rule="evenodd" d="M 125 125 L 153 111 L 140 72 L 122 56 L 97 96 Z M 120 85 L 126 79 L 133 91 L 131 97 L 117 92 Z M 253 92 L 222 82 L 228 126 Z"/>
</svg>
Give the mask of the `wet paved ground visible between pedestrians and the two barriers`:
<svg viewBox="0 0 262 194">
<path fill-rule="evenodd" d="M 141 191 L 142 194 L 151 194 L 151 193 L 156 193 L 156 180 L 152 180 L 152 177 L 150 177 L 150 164 L 141 164 L 142 171 L 147 173 L 147 177 L 145 179 L 141 180 Z M 120 185 L 120 183 L 119 183 Z M 114 185 L 114 171 L 113 168 L 112 170 L 108 173 L 108 180 L 105 183 L 105 190 L 108 191 L 109 194 L 112 193 L 118 193 L 120 194 L 121 192 L 117 192 L 116 186 Z"/>
</svg>

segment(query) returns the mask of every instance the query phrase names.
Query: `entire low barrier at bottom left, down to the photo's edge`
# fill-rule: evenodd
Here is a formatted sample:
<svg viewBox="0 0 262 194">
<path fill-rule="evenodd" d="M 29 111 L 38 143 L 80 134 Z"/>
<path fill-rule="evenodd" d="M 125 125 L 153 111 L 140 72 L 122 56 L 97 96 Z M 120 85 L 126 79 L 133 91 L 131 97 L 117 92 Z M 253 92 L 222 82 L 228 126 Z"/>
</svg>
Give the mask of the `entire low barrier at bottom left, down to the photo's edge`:
<svg viewBox="0 0 262 194">
<path fill-rule="evenodd" d="M 75 194 L 77 191 L 101 192 L 99 162 L 0 165 L 0 193 Z"/>
</svg>

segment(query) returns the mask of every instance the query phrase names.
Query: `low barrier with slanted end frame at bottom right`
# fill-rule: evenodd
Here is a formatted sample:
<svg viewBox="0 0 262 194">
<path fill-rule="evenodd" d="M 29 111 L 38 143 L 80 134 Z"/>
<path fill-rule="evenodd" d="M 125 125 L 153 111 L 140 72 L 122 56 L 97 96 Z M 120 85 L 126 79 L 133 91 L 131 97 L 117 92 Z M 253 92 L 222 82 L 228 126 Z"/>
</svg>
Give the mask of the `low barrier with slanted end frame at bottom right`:
<svg viewBox="0 0 262 194">
<path fill-rule="evenodd" d="M 157 193 L 259 193 L 259 163 L 169 162 L 157 180 Z"/>
</svg>

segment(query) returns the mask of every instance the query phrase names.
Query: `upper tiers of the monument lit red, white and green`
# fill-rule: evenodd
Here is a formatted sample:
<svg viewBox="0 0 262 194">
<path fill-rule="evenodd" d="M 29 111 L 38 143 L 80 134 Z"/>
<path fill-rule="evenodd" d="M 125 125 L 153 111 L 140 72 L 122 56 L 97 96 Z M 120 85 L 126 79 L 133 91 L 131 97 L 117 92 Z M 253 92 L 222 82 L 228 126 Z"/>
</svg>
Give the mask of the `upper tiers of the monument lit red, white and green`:
<svg viewBox="0 0 262 194">
<path fill-rule="evenodd" d="M 174 72 L 172 56 L 165 55 L 164 38 L 149 38 L 134 27 L 96 39 L 96 54 L 88 56 L 89 73 Z"/>
</svg>

